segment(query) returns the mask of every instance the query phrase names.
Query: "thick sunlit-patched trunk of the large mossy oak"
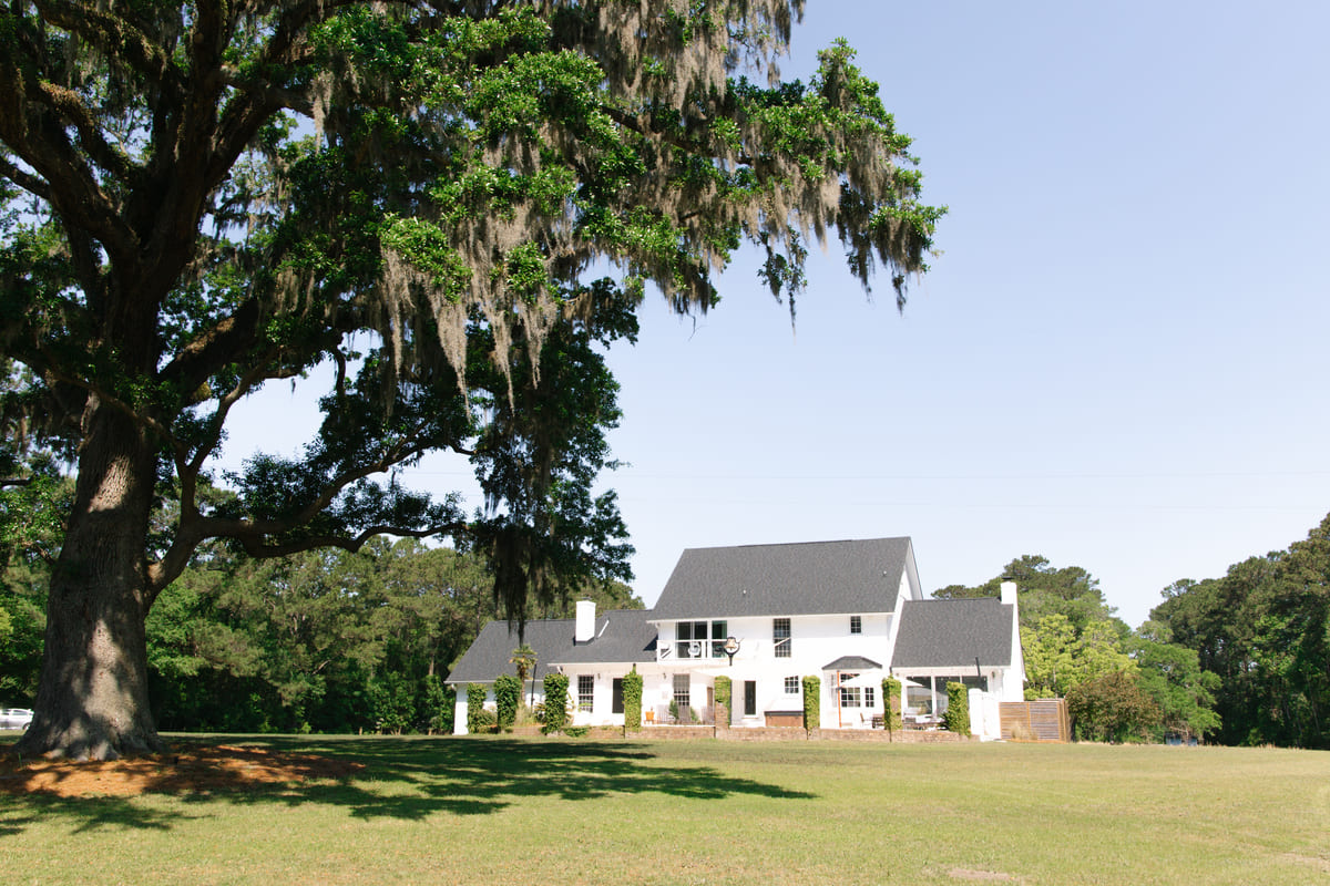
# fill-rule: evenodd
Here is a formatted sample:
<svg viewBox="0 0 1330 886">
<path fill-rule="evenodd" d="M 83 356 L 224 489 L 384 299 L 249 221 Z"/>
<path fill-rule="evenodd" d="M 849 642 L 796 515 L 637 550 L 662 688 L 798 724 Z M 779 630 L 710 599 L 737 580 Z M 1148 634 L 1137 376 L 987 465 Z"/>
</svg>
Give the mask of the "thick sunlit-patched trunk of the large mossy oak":
<svg viewBox="0 0 1330 886">
<path fill-rule="evenodd" d="M 78 481 L 51 576 L 31 754 L 113 760 L 161 751 L 148 703 L 152 438 L 96 396 L 84 414 Z"/>
</svg>

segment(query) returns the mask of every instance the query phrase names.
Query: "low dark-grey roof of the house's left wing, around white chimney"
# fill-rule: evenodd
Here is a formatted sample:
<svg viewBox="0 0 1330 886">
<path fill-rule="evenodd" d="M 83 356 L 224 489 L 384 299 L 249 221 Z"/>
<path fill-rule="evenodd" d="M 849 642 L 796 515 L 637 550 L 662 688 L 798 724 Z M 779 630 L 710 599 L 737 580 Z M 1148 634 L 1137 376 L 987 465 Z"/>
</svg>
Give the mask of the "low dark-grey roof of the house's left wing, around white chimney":
<svg viewBox="0 0 1330 886">
<path fill-rule="evenodd" d="M 576 619 L 527 622 L 527 646 L 536 652 L 533 680 L 544 680 L 557 664 L 577 662 L 632 663 L 656 660 L 656 628 L 649 610 L 612 610 L 596 619 L 593 639 L 573 643 Z M 517 648 L 517 631 L 507 622 L 489 622 L 458 660 L 444 683 L 493 683 L 500 673 L 516 673 L 508 662 Z"/>
</svg>

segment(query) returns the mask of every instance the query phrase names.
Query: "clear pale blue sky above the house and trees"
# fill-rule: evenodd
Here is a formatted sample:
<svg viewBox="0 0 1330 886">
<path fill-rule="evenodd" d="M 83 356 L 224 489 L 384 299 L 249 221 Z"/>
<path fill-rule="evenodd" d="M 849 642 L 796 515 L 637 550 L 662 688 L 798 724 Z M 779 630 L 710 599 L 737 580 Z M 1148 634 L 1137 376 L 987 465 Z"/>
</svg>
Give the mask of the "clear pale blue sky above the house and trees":
<svg viewBox="0 0 1330 886">
<path fill-rule="evenodd" d="M 793 332 L 751 256 L 705 317 L 646 306 L 610 355 L 637 592 L 685 547 L 911 535 L 926 591 L 1043 554 L 1136 626 L 1303 538 L 1330 511 L 1326 35 L 1322 3 L 809 0 L 785 74 L 859 49 L 951 209 L 942 254 L 904 315 L 834 243 Z"/>
</svg>

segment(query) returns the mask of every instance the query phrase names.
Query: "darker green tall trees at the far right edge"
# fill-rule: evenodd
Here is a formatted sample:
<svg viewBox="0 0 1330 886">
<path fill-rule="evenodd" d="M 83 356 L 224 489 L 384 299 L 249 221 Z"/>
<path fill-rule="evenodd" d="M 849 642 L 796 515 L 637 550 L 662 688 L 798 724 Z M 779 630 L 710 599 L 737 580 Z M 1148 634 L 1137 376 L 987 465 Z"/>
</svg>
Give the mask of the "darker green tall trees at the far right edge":
<svg viewBox="0 0 1330 886">
<path fill-rule="evenodd" d="M 1330 748 L 1330 517 L 1287 550 L 1164 598 L 1150 618 L 1220 679 L 1212 737 Z"/>
</svg>

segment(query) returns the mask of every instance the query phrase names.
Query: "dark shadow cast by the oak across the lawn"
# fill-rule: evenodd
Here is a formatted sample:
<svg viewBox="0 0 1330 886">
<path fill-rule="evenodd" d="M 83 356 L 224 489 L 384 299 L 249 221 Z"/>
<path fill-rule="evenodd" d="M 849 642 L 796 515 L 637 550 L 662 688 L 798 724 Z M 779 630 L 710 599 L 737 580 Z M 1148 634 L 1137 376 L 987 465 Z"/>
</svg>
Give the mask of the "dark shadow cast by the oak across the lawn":
<svg viewBox="0 0 1330 886">
<path fill-rule="evenodd" d="M 193 747 L 190 741 L 177 744 Z M 649 748 L 612 741 L 214 736 L 201 744 L 243 744 L 281 754 L 318 754 L 346 761 L 348 769 L 356 770 L 338 778 L 286 784 L 213 780 L 206 792 L 182 790 L 166 782 L 150 789 L 174 794 L 190 806 L 193 817 L 223 814 L 221 808 L 317 804 L 344 808 L 363 821 L 419 821 L 438 814 L 492 814 L 525 797 L 585 801 L 610 794 L 642 794 L 706 801 L 733 796 L 771 800 L 811 800 L 815 796 L 734 777 L 714 766 L 681 765 L 677 758 L 664 762 Z M 17 802 L 0 813 L 0 836 L 21 832 L 37 818 L 48 822 L 64 818 L 77 832 L 169 829 L 178 817 L 162 812 L 160 804 L 132 797 L 20 796 L 12 800 Z"/>
</svg>

